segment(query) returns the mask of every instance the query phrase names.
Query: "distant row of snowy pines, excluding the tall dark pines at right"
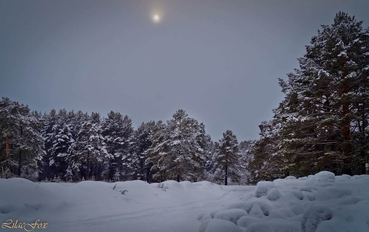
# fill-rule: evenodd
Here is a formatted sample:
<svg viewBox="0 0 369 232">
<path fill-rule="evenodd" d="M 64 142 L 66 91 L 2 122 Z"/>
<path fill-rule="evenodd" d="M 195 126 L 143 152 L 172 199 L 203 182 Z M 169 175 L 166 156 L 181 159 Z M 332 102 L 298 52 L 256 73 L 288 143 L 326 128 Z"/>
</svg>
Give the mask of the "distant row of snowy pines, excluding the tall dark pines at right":
<svg viewBox="0 0 369 232">
<path fill-rule="evenodd" d="M 227 130 L 211 141 L 203 123 L 178 110 L 166 123 L 132 127 L 128 115 L 51 110 L 41 114 L 3 97 L 3 177 L 34 181 L 211 180 L 241 183 L 241 146 Z M 247 147 L 247 146 L 244 146 Z"/>
</svg>

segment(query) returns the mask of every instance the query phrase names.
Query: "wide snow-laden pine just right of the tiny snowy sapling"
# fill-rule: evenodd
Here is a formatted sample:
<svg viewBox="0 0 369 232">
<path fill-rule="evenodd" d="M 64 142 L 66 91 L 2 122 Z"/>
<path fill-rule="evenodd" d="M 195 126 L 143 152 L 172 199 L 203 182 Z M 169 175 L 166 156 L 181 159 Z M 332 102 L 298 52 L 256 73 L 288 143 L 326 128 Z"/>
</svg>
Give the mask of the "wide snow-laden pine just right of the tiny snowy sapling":
<svg viewBox="0 0 369 232">
<path fill-rule="evenodd" d="M 81 172 L 80 168 L 85 164 L 85 175 L 83 172 L 80 174 L 81 176 L 86 176 L 87 179 L 91 176 L 92 164 L 100 164 L 104 160 L 111 158 L 111 155 L 106 150 L 104 138 L 101 135 L 102 130 L 98 124 L 99 115 L 97 114 L 92 114 L 91 119 L 82 124 L 76 141 L 68 149 L 68 158 L 74 162 L 72 168 Z"/>
</svg>

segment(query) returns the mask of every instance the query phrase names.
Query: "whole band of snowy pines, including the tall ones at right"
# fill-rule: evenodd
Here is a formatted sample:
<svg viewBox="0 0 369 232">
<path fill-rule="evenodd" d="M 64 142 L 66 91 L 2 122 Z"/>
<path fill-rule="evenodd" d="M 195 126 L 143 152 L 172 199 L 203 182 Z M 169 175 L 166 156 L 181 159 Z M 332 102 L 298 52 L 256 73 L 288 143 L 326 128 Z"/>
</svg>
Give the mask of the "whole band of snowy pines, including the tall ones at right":
<svg viewBox="0 0 369 232">
<path fill-rule="evenodd" d="M 213 142 L 178 110 L 137 129 L 120 112 L 41 114 L 0 101 L 1 176 L 30 180 L 210 180 L 255 184 L 285 176 L 365 174 L 369 163 L 369 28 L 344 12 L 311 38 L 300 68 L 279 79 L 285 94 L 260 138 Z"/>
</svg>

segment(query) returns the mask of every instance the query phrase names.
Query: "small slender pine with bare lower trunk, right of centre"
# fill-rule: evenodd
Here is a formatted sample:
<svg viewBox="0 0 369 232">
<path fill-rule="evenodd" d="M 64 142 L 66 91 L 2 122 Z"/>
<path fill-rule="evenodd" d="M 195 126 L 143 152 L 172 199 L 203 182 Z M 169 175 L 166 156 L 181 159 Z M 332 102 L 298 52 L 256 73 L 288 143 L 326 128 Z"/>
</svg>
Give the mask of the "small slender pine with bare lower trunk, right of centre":
<svg viewBox="0 0 369 232">
<path fill-rule="evenodd" d="M 239 171 L 239 148 L 236 135 L 227 130 L 223 133 L 223 138 L 219 139 L 219 146 L 215 153 L 215 167 L 221 169 L 217 179 L 222 176 L 224 184 L 228 184 L 228 179 L 239 183 L 242 173 Z"/>
</svg>

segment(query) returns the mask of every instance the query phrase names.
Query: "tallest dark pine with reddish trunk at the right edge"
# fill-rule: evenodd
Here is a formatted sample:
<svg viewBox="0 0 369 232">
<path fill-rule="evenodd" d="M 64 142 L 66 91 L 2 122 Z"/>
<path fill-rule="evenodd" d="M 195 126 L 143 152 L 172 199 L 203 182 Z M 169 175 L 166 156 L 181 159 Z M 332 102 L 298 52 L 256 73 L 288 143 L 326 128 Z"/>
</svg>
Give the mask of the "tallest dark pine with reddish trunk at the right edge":
<svg viewBox="0 0 369 232">
<path fill-rule="evenodd" d="M 369 28 L 344 12 L 322 27 L 286 83 L 295 112 L 280 131 L 285 169 L 300 174 L 310 162 L 338 174 L 359 166 L 355 174 L 362 174 L 369 162 Z"/>
</svg>

